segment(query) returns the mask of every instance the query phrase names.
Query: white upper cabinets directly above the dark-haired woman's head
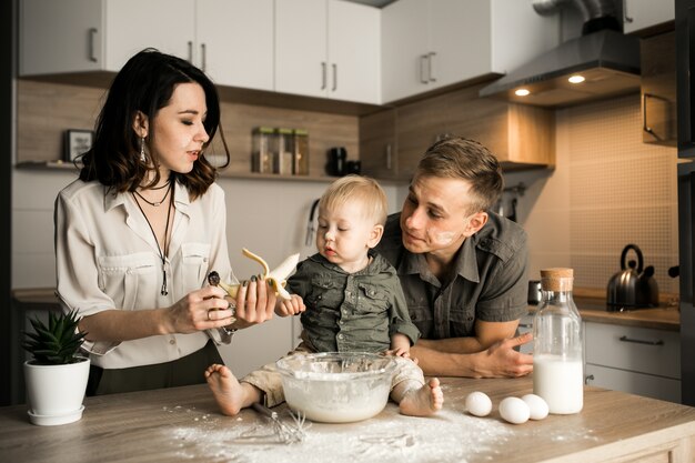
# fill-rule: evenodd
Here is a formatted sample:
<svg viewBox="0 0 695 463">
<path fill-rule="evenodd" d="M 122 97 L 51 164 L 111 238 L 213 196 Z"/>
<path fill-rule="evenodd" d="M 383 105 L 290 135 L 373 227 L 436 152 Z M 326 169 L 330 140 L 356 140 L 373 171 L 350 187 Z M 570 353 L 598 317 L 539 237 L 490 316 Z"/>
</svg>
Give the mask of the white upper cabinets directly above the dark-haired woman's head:
<svg viewBox="0 0 695 463">
<path fill-rule="evenodd" d="M 152 47 L 218 84 L 272 90 L 272 18 L 273 0 L 21 0 L 20 76 L 117 72 Z"/>
</svg>

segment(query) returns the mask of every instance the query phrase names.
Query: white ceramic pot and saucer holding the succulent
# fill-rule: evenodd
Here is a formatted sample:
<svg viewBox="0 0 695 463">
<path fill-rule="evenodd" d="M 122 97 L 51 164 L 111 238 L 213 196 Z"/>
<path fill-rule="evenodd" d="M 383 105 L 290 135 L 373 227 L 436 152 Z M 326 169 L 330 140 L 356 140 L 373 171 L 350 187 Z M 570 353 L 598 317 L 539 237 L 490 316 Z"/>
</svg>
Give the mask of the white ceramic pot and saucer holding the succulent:
<svg viewBox="0 0 695 463">
<path fill-rule="evenodd" d="M 82 417 L 89 365 L 87 358 L 64 365 L 36 365 L 32 360 L 24 362 L 30 421 L 54 425 Z"/>
</svg>

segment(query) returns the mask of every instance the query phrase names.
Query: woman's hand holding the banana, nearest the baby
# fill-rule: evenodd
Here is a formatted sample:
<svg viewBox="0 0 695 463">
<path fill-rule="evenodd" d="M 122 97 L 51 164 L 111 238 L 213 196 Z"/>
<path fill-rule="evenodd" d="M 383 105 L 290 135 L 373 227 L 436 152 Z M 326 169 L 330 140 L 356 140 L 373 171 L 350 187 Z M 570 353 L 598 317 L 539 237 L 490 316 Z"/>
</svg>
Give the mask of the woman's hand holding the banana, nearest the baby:
<svg viewBox="0 0 695 463">
<path fill-rule="evenodd" d="M 228 328 L 244 329 L 272 319 L 275 302 L 275 291 L 265 281 L 252 276 L 239 286 L 234 315 L 236 321 Z"/>
</svg>

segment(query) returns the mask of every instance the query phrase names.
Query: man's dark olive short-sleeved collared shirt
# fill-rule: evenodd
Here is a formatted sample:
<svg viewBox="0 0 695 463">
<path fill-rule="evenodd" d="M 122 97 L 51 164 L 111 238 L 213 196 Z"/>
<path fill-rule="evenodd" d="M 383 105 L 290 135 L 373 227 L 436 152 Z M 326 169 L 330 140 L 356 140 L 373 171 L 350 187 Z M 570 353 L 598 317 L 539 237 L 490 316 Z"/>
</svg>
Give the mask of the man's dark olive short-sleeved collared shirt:
<svg viewBox="0 0 695 463">
<path fill-rule="evenodd" d="M 487 223 L 467 238 L 455 259 L 455 272 L 441 282 L 424 254 L 403 246 L 401 214 L 389 217 L 376 246 L 396 269 L 413 323 L 423 339 L 475 335 L 475 320 L 507 322 L 527 311 L 526 232 L 490 212 Z"/>
</svg>

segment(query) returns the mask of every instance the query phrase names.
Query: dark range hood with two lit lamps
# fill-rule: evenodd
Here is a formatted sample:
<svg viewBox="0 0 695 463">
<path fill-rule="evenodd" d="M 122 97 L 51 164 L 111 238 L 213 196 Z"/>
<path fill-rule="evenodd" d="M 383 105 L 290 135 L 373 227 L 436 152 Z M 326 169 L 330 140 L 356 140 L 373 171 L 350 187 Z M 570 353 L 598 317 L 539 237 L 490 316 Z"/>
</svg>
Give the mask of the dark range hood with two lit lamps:
<svg viewBox="0 0 695 463">
<path fill-rule="evenodd" d="M 560 8 L 568 0 L 536 0 L 534 8 L 546 13 L 547 4 Z M 483 88 L 481 97 L 566 107 L 639 90 L 639 39 L 616 30 L 622 27 L 615 18 L 613 2 L 573 0 L 572 3 L 584 17 L 582 36 Z"/>
</svg>

